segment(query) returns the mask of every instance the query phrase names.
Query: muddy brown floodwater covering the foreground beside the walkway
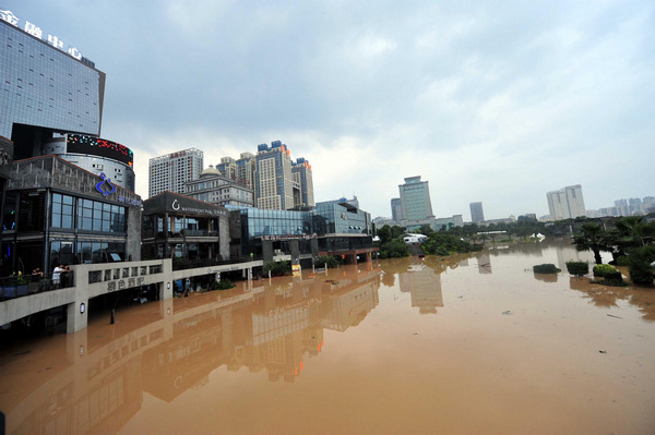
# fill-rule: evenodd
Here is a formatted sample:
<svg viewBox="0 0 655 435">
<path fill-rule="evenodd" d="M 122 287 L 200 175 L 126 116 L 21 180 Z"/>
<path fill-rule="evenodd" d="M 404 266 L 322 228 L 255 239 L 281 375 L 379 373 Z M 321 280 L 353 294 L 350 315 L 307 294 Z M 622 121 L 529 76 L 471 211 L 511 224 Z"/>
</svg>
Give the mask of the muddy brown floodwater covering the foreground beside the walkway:
<svg viewBox="0 0 655 435">
<path fill-rule="evenodd" d="M 522 244 L 303 271 L 0 345 L 7 433 L 653 434 L 655 290 L 569 259 L 593 258 Z"/>
</svg>

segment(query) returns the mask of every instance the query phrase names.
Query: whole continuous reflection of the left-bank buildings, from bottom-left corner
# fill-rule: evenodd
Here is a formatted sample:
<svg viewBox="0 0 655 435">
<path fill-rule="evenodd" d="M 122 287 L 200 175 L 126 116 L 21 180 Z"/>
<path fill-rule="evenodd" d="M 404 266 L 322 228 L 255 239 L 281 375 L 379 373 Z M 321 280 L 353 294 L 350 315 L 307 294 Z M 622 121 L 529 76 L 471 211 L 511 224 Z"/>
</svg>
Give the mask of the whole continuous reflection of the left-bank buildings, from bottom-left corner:
<svg viewBox="0 0 655 435">
<path fill-rule="evenodd" d="M 378 270 L 340 270 L 337 281 L 259 281 L 211 304 L 164 301 L 158 318 L 134 316 L 138 326 L 112 340 L 99 335 L 87 342 L 86 329 L 61 337 L 68 347 L 48 355 L 58 361 L 55 370 L 0 373 L 11 391 L 0 391 L 7 433 L 114 434 L 141 409 L 143 391 L 170 402 L 223 365 L 293 382 L 305 355 L 320 353 L 323 328 L 345 330 L 378 304 Z"/>
</svg>

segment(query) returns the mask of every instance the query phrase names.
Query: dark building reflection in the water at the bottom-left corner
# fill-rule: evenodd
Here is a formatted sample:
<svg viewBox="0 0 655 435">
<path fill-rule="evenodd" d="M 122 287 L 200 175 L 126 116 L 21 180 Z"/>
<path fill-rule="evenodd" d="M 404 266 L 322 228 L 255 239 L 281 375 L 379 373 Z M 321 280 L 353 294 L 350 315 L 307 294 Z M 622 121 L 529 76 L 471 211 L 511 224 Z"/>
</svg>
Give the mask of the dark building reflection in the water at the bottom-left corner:
<svg viewBox="0 0 655 435">
<path fill-rule="evenodd" d="M 141 357 L 168 336 L 160 319 L 109 342 L 87 342 L 83 330 L 61 337 L 66 347 L 48 354 L 53 371 L 4 371 L 0 384 L 15 385 L 11 398 L 1 397 L 7 433 L 119 432 L 141 409 Z"/>
</svg>

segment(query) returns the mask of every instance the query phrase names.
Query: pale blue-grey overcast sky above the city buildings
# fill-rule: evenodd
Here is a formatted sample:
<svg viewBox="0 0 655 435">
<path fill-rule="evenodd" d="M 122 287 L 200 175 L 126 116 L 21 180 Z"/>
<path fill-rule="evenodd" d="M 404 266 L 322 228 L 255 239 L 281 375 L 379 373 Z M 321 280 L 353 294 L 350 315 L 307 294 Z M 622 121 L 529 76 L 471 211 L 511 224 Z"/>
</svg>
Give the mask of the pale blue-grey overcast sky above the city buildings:
<svg viewBox="0 0 655 435">
<path fill-rule="evenodd" d="M 391 216 L 405 177 L 437 217 L 655 195 L 655 2 L 26 1 L 22 21 L 107 74 L 102 136 L 205 167 L 281 140 L 317 201 Z"/>
</svg>

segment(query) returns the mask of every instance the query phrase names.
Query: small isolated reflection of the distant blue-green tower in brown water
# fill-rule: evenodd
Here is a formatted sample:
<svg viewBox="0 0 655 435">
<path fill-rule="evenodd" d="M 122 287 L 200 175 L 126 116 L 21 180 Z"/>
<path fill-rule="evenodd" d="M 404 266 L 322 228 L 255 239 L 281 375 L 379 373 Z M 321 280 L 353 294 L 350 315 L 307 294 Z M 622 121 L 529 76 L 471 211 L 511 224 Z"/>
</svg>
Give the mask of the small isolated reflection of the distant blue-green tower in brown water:
<svg viewBox="0 0 655 435">
<path fill-rule="evenodd" d="M 412 306 L 418 306 L 420 314 L 437 313 L 438 306 L 443 306 L 441 293 L 441 275 L 425 266 L 413 264 L 405 273 L 398 274 L 402 292 L 409 292 Z"/>
</svg>

